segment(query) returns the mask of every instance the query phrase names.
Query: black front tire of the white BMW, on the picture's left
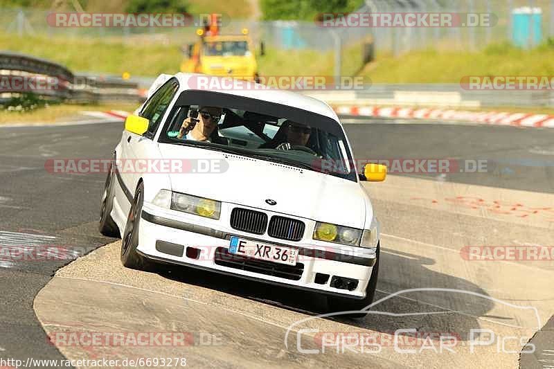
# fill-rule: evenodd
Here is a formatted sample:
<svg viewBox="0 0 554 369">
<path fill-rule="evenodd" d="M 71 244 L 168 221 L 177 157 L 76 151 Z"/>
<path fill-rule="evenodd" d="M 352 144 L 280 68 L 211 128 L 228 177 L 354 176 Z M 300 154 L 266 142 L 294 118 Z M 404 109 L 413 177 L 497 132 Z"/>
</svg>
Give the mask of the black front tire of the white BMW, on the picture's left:
<svg viewBox="0 0 554 369">
<path fill-rule="evenodd" d="M 141 212 L 144 201 L 144 184 L 141 182 L 136 188 L 133 204 L 129 210 L 125 232 L 121 239 L 121 264 L 124 267 L 148 270 L 149 264 L 139 253 L 136 252 L 139 246 L 139 226 L 141 222 Z"/>
</svg>

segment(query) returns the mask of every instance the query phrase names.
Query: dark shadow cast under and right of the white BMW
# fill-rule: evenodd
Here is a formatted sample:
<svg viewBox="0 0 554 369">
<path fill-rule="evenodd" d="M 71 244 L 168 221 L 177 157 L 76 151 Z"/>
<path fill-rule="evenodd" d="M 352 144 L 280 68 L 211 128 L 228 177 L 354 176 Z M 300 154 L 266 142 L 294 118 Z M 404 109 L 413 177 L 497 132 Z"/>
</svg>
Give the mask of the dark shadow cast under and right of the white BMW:
<svg viewBox="0 0 554 369">
<path fill-rule="evenodd" d="M 422 332 L 445 332 L 467 339 L 467 332 L 480 327 L 478 318 L 488 316 L 494 301 L 486 298 L 483 289 L 472 282 L 439 273 L 429 268 L 435 261 L 409 253 L 383 249 L 379 282 L 374 303 L 365 318 L 352 319 L 343 316 L 326 317 L 352 327 L 377 332 L 393 332 L 398 329 L 416 328 Z M 276 287 L 238 277 L 222 276 L 187 267 L 163 267 L 160 275 L 178 282 L 188 283 L 256 300 L 260 303 L 301 312 L 312 316 L 328 312 L 325 296 L 286 287 Z M 386 296 L 406 289 L 452 289 L 453 291 L 408 291 L 397 296 Z M 469 291 L 470 294 L 454 290 Z M 377 312 L 374 314 L 373 312 Z M 305 316 L 298 316 L 298 319 Z M 488 316 L 498 321 L 511 322 L 509 316 Z"/>
</svg>

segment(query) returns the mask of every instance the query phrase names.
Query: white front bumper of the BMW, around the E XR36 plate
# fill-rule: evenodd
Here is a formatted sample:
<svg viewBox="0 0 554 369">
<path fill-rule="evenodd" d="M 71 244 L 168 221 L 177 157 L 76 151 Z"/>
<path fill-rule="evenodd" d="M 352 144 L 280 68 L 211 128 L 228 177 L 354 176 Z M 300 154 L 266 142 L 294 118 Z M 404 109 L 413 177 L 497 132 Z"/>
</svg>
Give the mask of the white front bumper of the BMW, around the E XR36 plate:
<svg viewBox="0 0 554 369">
<path fill-rule="evenodd" d="M 166 212 L 157 212 L 154 207 L 144 208 L 141 217 L 137 251 L 143 257 L 273 285 L 362 299 L 366 296 L 368 280 L 377 261 L 375 254 L 366 254 L 363 257 L 348 255 L 336 248 L 321 250 L 305 244 L 275 242 L 263 236 L 235 230 L 220 231 L 195 224 L 190 218 L 176 219 Z M 264 244 L 296 248 L 298 249 L 296 267 L 260 262 L 251 258 L 235 260 L 235 255 L 228 253 L 232 236 Z M 334 278 L 357 280 L 357 285 L 355 288 L 350 288 L 351 290 L 345 287 L 332 287 Z M 334 285 L 336 286 L 337 283 Z"/>
</svg>

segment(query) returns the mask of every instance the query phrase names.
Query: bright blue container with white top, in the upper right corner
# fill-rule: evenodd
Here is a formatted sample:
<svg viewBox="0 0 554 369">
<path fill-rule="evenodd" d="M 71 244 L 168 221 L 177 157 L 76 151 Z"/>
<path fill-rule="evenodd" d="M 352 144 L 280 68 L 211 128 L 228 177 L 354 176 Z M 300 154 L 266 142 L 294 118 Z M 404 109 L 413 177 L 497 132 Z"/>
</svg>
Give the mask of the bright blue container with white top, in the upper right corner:
<svg viewBox="0 0 554 369">
<path fill-rule="evenodd" d="M 530 48 L 542 42 L 540 8 L 517 8 L 512 11 L 512 42 L 521 48 Z"/>
</svg>

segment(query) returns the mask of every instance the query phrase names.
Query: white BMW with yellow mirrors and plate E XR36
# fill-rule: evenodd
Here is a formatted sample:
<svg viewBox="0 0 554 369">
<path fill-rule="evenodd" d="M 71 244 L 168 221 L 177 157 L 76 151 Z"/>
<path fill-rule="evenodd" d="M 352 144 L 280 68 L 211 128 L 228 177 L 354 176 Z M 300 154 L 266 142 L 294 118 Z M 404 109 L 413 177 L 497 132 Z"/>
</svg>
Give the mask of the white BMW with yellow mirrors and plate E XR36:
<svg viewBox="0 0 554 369">
<path fill-rule="evenodd" d="M 179 264 L 328 296 L 364 309 L 379 224 L 334 111 L 289 91 L 190 89 L 163 75 L 129 116 L 102 196 L 100 232 L 125 267 Z M 163 82 L 163 83 L 162 83 Z"/>
</svg>

